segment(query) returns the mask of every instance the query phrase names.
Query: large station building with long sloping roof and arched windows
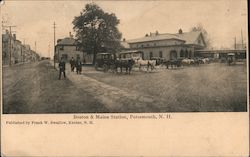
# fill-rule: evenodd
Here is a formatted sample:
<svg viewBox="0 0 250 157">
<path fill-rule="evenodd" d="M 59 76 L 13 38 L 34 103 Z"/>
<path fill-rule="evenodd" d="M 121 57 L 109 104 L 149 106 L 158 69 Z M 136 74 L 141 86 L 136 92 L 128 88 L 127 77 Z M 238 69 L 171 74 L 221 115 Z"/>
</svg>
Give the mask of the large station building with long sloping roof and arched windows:
<svg viewBox="0 0 250 157">
<path fill-rule="evenodd" d="M 167 60 L 192 58 L 195 55 L 195 50 L 206 47 L 203 34 L 200 31 L 182 32 L 181 29 L 176 34 L 160 34 L 156 31 L 127 42 L 130 49 L 142 51 L 144 59 L 152 57 L 162 57 Z"/>
</svg>

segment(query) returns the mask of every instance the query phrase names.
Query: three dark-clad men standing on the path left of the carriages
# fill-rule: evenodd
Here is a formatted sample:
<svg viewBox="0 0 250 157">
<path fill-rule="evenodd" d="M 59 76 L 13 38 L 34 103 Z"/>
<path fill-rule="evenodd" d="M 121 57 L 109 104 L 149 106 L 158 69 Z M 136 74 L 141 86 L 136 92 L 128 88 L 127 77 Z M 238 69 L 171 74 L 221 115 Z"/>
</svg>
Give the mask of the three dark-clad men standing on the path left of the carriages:
<svg viewBox="0 0 250 157">
<path fill-rule="evenodd" d="M 74 70 L 76 69 L 76 73 L 77 74 L 81 74 L 82 72 L 82 61 L 80 60 L 80 58 L 77 58 L 76 60 L 72 57 L 70 60 L 70 66 L 71 66 L 71 71 L 74 72 Z M 63 59 L 63 57 L 61 58 L 60 62 L 59 62 L 59 80 L 61 79 L 61 75 L 63 74 L 64 78 L 66 78 L 66 74 L 65 74 L 65 61 Z"/>
</svg>

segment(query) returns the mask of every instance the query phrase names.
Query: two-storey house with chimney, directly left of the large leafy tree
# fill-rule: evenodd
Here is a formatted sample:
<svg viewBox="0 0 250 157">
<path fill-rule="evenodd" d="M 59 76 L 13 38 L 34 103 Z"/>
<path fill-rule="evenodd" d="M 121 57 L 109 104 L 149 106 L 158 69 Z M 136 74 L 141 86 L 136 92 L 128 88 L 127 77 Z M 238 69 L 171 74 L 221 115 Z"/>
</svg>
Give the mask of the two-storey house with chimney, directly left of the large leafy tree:
<svg viewBox="0 0 250 157">
<path fill-rule="evenodd" d="M 56 60 L 60 61 L 61 58 L 64 58 L 65 61 L 69 62 L 72 57 L 83 60 L 83 52 L 79 50 L 77 41 L 70 33 L 69 37 L 57 40 Z"/>
</svg>

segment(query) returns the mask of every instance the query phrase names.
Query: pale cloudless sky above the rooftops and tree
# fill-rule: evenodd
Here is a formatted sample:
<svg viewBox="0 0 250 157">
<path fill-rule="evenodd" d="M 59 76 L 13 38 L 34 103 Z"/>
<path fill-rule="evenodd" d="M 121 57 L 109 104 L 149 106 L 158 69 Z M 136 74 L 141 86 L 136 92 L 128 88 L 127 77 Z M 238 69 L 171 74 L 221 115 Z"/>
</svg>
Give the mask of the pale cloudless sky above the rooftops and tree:
<svg viewBox="0 0 250 157">
<path fill-rule="evenodd" d="M 214 48 L 232 48 L 234 38 L 247 38 L 247 0 L 154 0 L 154 1 L 25 1 L 7 0 L 1 6 L 4 25 L 13 28 L 17 39 L 29 44 L 41 56 L 53 56 L 53 23 L 56 39 L 74 34 L 72 21 L 85 4 L 94 2 L 105 12 L 115 13 L 126 40 L 140 38 L 150 32 L 184 32 L 202 24 Z"/>
</svg>

